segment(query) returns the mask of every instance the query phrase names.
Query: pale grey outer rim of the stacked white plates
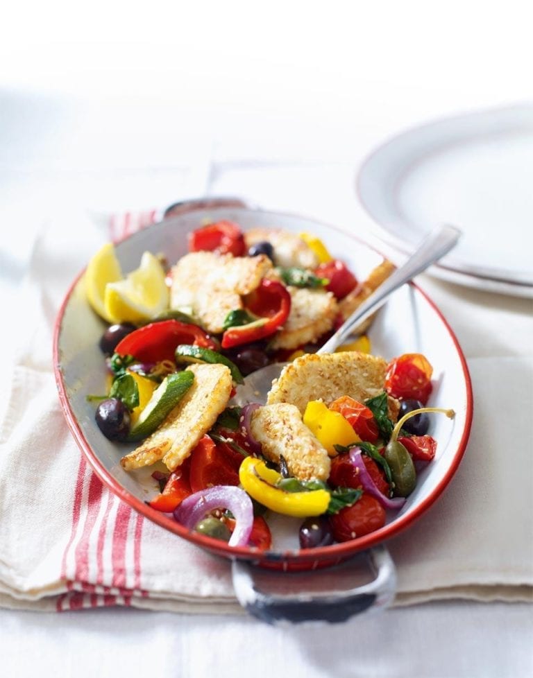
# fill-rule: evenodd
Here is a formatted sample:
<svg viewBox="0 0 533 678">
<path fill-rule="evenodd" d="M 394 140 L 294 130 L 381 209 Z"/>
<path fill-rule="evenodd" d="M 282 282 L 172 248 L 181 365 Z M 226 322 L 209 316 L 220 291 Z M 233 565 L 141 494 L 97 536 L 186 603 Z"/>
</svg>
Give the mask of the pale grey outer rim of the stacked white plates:
<svg viewBox="0 0 533 678">
<path fill-rule="evenodd" d="M 379 144 L 371 148 L 371 150 L 364 155 L 357 170 L 355 177 L 355 193 L 360 204 L 366 211 L 366 214 L 368 214 L 372 220 L 372 227 L 375 235 L 380 238 L 384 244 L 393 246 L 395 249 L 403 252 L 403 254 L 410 254 L 413 251 L 414 244 L 412 246 L 406 246 L 405 241 L 396 236 L 396 234 L 389 229 L 387 223 L 384 223 L 384 220 L 375 213 L 375 201 L 369 199 L 366 194 L 366 189 L 364 188 L 366 173 L 369 172 L 369 167 L 375 162 L 376 158 L 379 159 L 381 155 L 389 153 L 390 148 L 394 148 L 397 144 L 403 143 L 405 139 L 421 135 L 427 130 L 432 130 L 432 128 L 444 127 L 453 130 L 453 128 L 456 128 L 458 124 L 465 120 L 475 120 L 476 118 L 484 116 L 497 117 L 514 115 L 518 117 L 518 113 L 523 111 L 531 111 L 533 128 L 533 103 L 523 101 L 513 105 L 502 105 L 498 107 L 468 110 L 459 114 L 437 116 L 430 121 L 410 125 L 399 132 L 390 134 L 380 141 Z M 514 127 L 518 129 L 518 123 L 515 123 Z M 455 134 L 455 136 L 457 137 L 457 134 Z M 468 138 L 473 138 L 473 135 L 468 134 Z M 434 139 L 437 139 L 437 137 L 434 137 Z M 420 159 L 422 155 L 434 155 L 440 153 L 443 147 L 455 144 L 457 144 L 457 139 L 442 140 L 438 144 L 435 144 L 435 148 L 433 148 L 430 153 L 428 151 L 425 153 L 423 151 L 418 152 L 416 158 Z M 388 164 L 391 166 L 390 163 Z M 412 162 L 407 163 L 405 166 L 409 166 L 410 164 L 412 164 Z M 399 220 L 401 220 L 401 218 L 399 218 Z M 407 221 L 405 221 L 405 223 L 409 224 Z M 491 290 L 496 292 L 533 297 L 533 279 L 530 281 L 525 281 L 523 279 L 524 275 L 528 275 L 527 270 L 521 270 L 516 273 L 509 269 L 494 268 L 492 266 L 478 266 L 475 264 L 471 265 L 468 261 L 457 259 L 452 253 L 444 257 L 439 263 L 434 264 L 430 272 L 437 277 L 441 277 L 448 281 L 456 281 L 458 284 L 463 284 L 465 286 L 483 288 L 483 283 L 487 283 Z"/>
</svg>

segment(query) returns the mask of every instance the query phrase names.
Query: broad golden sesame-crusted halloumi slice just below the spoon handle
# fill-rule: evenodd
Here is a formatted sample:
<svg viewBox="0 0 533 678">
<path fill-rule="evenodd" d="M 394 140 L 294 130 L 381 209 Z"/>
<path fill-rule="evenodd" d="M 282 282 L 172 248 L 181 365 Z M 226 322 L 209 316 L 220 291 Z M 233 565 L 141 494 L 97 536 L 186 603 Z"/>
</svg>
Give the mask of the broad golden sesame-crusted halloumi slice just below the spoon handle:
<svg viewBox="0 0 533 678">
<path fill-rule="evenodd" d="M 311 400 L 329 405 L 347 395 L 363 402 L 383 391 L 386 370 L 384 358 L 357 351 L 305 354 L 283 368 L 267 403 L 292 403 L 303 414 Z"/>
</svg>

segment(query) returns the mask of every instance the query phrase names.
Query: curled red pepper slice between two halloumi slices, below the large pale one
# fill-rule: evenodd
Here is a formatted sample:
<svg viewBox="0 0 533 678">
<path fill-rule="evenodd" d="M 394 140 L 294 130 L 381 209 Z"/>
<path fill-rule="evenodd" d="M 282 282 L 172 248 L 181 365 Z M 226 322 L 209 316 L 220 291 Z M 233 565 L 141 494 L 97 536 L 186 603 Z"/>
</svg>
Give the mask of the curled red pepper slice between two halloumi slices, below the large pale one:
<svg viewBox="0 0 533 678">
<path fill-rule="evenodd" d="M 291 311 L 291 295 L 277 280 L 264 278 L 257 289 L 246 296 L 244 305 L 247 311 L 259 318 L 227 329 L 222 336 L 223 349 L 260 340 L 282 327 Z"/>
</svg>

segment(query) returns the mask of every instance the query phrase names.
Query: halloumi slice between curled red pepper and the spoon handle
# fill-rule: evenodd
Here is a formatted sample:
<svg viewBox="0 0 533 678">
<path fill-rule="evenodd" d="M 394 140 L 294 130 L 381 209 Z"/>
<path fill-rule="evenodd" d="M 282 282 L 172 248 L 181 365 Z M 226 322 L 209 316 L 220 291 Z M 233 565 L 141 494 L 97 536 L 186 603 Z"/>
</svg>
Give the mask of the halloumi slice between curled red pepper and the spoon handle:
<svg viewBox="0 0 533 678">
<path fill-rule="evenodd" d="M 325 290 L 289 287 L 291 311 L 272 341 L 273 349 L 295 349 L 314 342 L 333 327 L 337 299 Z"/>
</svg>

